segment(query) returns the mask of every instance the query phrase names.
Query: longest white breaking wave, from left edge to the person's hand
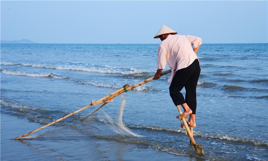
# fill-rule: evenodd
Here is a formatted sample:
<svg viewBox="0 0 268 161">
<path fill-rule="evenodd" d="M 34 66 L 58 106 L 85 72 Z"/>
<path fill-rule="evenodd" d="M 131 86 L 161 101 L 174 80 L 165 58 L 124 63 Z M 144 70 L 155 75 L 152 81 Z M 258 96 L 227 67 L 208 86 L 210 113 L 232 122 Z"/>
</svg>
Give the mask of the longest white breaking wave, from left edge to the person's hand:
<svg viewBox="0 0 268 161">
<path fill-rule="evenodd" d="M 10 63 L 10 62 L 1 62 L 2 65 L 22 65 L 22 66 L 31 66 L 38 68 L 47 68 L 47 69 L 56 69 L 56 70 L 71 70 L 71 71 L 86 71 L 86 72 L 96 72 L 96 73 L 107 73 L 107 74 L 140 74 L 144 72 L 155 72 L 145 69 L 136 69 L 136 68 L 122 68 L 122 67 L 112 67 L 108 65 L 91 65 L 91 67 L 84 66 L 50 66 L 45 64 L 29 64 L 29 63 Z M 108 69 L 107 69 L 108 68 Z"/>
</svg>

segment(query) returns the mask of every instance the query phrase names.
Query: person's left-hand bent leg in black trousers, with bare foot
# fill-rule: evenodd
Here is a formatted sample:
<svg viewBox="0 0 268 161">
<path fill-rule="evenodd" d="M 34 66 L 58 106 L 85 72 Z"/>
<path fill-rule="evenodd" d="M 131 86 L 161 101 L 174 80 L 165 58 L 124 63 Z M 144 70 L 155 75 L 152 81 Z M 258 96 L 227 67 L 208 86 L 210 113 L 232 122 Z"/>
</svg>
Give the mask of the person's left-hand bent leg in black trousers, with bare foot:
<svg viewBox="0 0 268 161">
<path fill-rule="evenodd" d="M 180 91 L 185 86 L 188 79 L 193 75 L 193 73 L 194 68 L 191 65 L 187 68 L 183 68 L 176 71 L 175 76 L 173 77 L 169 87 L 170 97 L 172 101 L 174 102 L 175 106 L 177 106 L 177 108 L 179 108 L 179 105 L 182 106 L 182 108 L 184 109 L 184 115 L 190 115 L 192 113 L 192 110 L 185 102 L 184 97 Z"/>
</svg>

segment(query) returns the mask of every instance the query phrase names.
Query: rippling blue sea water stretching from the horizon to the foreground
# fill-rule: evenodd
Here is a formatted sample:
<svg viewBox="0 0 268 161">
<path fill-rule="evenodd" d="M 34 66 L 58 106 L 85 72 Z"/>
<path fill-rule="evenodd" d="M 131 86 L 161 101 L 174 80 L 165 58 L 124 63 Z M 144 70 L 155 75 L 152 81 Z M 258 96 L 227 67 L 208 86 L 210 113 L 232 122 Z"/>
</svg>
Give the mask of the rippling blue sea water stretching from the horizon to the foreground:
<svg viewBox="0 0 268 161">
<path fill-rule="evenodd" d="M 267 43 L 201 45 L 194 139 L 204 156 L 177 132 L 181 122 L 169 95 L 170 74 L 123 94 L 123 123 L 144 137 L 109 130 L 101 111 L 74 122 L 96 105 L 12 140 L 153 76 L 157 47 L 1 44 L 1 160 L 268 160 Z M 116 97 L 103 110 L 116 117 L 121 101 Z"/>
</svg>

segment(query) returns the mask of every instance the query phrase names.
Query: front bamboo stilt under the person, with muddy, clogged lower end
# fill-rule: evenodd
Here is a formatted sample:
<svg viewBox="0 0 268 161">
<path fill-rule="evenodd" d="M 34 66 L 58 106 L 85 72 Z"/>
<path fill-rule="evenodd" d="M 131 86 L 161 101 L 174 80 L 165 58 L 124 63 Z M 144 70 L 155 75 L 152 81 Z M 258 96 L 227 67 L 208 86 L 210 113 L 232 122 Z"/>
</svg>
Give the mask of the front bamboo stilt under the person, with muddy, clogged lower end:
<svg viewBox="0 0 268 161">
<path fill-rule="evenodd" d="M 177 109 L 179 110 L 179 115 L 183 115 L 182 111 L 179 108 L 179 105 L 177 105 Z M 188 126 L 188 124 L 187 124 L 187 122 L 186 122 L 184 117 L 182 117 L 182 121 L 183 121 L 185 129 L 186 129 L 186 131 L 188 133 L 188 136 L 190 138 L 190 142 L 191 142 L 192 145 L 194 145 L 194 149 L 195 149 L 196 153 L 198 155 L 204 155 L 205 154 L 204 153 L 204 148 L 200 144 L 195 143 L 193 133 L 190 131 L 189 126 Z"/>
</svg>

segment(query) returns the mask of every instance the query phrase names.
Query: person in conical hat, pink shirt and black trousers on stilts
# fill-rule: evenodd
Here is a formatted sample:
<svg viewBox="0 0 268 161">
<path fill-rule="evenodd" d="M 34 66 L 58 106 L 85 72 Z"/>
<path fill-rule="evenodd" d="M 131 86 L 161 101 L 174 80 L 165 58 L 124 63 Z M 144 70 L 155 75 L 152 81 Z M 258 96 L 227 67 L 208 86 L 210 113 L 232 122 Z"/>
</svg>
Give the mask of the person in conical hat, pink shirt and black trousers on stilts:
<svg viewBox="0 0 268 161">
<path fill-rule="evenodd" d="M 160 78 L 167 61 L 171 68 L 171 76 L 168 79 L 170 97 L 177 108 L 181 105 L 184 109 L 183 115 L 176 118 L 190 115 L 187 124 L 189 127 L 195 127 L 196 85 L 201 71 L 196 53 L 202 39 L 191 35 L 175 35 L 177 33 L 163 25 L 154 37 L 162 41 L 157 50 L 157 71 L 154 80 Z M 183 87 L 186 91 L 185 100 L 180 92 Z"/>
</svg>

